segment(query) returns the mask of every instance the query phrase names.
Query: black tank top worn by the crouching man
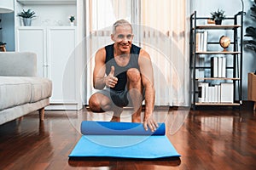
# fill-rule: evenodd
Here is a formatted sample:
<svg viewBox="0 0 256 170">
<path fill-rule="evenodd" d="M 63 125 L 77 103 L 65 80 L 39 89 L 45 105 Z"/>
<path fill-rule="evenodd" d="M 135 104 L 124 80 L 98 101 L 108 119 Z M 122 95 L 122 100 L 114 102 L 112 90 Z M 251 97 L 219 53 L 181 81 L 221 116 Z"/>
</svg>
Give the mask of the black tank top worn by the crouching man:
<svg viewBox="0 0 256 170">
<path fill-rule="evenodd" d="M 111 71 L 111 66 L 114 66 L 114 77 L 118 78 L 118 83 L 115 85 L 114 88 L 111 88 L 116 91 L 122 91 L 125 90 L 126 82 L 127 82 L 127 77 L 126 77 L 126 72 L 130 68 L 137 68 L 139 70 L 139 65 L 138 65 L 138 56 L 140 54 L 141 48 L 137 47 L 136 45 L 131 44 L 131 57 L 127 65 L 125 66 L 119 66 L 114 58 L 113 58 L 113 44 L 108 45 L 105 47 L 106 49 L 106 74 L 108 75 L 109 72 Z"/>
</svg>

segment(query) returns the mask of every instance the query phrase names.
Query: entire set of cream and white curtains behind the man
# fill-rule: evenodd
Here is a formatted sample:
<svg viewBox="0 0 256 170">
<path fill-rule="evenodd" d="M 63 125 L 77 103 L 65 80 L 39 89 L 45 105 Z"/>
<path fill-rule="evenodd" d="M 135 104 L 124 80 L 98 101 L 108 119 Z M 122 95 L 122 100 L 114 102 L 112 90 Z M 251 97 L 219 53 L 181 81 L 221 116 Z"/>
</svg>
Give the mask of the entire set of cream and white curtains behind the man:
<svg viewBox="0 0 256 170">
<path fill-rule="evenodd" d="M 125 19 L 133 25 L 134 43 L 151 56 L 155 105 L 189 105 L 189 0 L 90 0 L 89 9 L 85 103 L 95 92 L 96 50 L 112 43 L 113 23 Z"/>
</svg>

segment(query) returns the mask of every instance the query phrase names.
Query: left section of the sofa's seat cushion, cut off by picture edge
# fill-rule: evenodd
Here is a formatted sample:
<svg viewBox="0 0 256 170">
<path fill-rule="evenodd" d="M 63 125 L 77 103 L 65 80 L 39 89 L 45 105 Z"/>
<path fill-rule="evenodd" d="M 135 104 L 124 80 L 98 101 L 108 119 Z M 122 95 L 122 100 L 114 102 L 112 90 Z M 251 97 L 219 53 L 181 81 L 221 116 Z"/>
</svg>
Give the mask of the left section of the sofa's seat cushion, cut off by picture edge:
<svg viewBox="0 0 256 170">
<path fill-rule="evenodd" d="M 32 86 L 20 77 L 0 77 L 0 111 L 31 101 Z"/>
</svg>

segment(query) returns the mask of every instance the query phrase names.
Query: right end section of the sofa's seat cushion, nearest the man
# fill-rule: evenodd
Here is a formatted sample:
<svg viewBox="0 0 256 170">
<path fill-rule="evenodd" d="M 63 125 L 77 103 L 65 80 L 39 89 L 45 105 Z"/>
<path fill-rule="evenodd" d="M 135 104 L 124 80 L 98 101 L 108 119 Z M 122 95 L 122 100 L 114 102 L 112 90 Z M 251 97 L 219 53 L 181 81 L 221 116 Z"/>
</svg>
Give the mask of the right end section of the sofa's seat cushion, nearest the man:
<svg viewBox="0 0 256 170">
<path fill-rule="evenodd" d="M 50 97 L 52 84 L 49 79 L 44 77 L 20 77 L 20 78 L 22 78 L 26 82 L 31 83 L 31 100 L 30 100 L 31 103 Z"/>
</svg>

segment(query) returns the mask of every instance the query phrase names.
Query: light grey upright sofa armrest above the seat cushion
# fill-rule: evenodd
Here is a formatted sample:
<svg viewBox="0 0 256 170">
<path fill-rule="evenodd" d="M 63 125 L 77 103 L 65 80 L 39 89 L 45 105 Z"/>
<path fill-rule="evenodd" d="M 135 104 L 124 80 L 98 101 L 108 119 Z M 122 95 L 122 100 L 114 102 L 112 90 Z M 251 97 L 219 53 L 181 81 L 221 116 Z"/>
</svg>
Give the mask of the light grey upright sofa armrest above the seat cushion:
<svg viewBox="0 0 256 170">
<path fill-rule="evenodd" d="M 0 52 L 0 76 L 36 77 L 37 54 L 30 52 Z"/>
</svg>

